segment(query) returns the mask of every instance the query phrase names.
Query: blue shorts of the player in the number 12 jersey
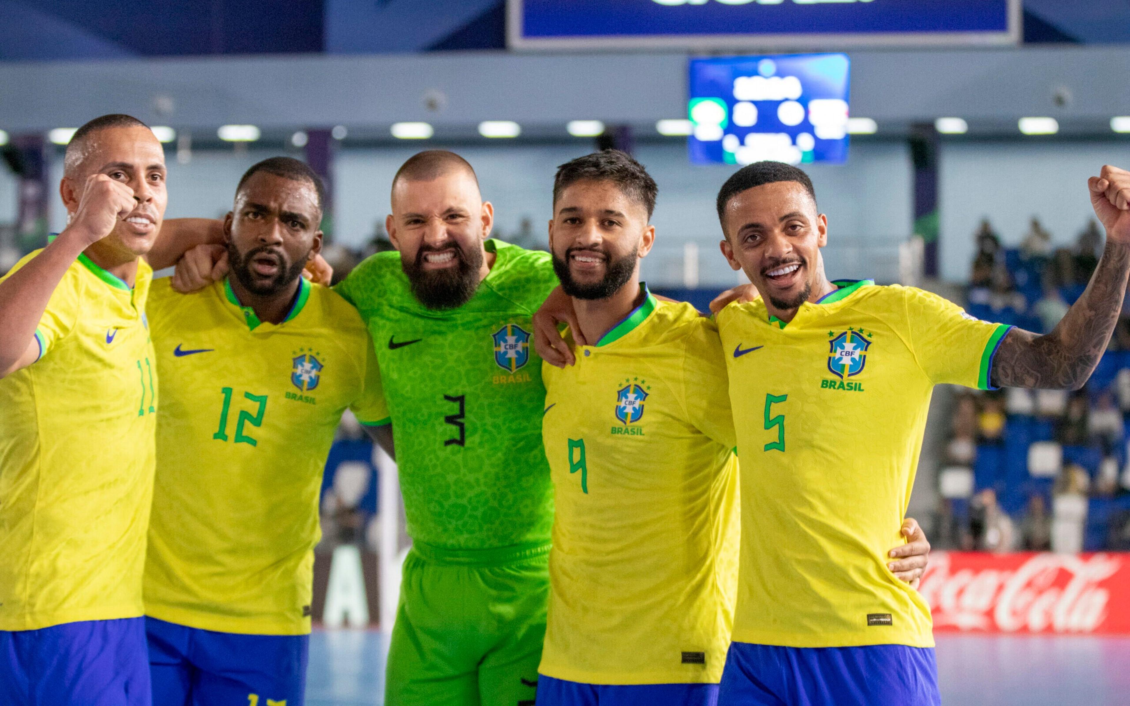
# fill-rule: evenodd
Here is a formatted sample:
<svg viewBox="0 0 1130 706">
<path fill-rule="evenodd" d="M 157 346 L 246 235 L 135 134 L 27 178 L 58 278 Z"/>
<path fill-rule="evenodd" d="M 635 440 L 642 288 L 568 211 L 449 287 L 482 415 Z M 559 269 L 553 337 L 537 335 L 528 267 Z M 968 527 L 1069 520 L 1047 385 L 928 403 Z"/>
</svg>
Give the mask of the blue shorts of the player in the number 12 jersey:
<svg viewBox="0 0 1130 706">
<path fill-rule="evenodd" d="M 310 635 L 240 635 L 146 618 L 159 706 L 302 706 Z"/>
</svg>

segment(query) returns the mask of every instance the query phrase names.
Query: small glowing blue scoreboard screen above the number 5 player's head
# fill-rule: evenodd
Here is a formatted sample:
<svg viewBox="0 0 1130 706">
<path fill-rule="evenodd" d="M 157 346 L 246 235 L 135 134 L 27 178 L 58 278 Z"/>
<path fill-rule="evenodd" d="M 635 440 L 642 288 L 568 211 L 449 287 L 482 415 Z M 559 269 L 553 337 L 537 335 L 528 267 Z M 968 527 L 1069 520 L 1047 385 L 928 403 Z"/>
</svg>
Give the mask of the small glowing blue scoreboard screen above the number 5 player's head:
<svg viewBox="0 0 1130 706">
<path fill-rule="evenodd" d="M 849 67 L 846 54 L 693 59 L 690 160 L 845 162 Z"/>
</svg>

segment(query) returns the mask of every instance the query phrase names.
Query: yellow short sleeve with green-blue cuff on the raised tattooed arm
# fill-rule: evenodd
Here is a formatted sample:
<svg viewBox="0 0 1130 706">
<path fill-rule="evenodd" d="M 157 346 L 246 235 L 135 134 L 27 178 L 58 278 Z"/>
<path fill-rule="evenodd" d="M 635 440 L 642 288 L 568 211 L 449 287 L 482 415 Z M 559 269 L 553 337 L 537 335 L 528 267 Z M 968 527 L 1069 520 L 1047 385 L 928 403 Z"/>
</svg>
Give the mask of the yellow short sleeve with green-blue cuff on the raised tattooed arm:
<svg viewBox="0 0 1130 706">
<path fill-rule="evenodd" d="M 1012 326 L 981 321 L 936 294 L 907 287 L 910 346 L 935 383 L 992 390 L 992 358 Z"/>
</svg>

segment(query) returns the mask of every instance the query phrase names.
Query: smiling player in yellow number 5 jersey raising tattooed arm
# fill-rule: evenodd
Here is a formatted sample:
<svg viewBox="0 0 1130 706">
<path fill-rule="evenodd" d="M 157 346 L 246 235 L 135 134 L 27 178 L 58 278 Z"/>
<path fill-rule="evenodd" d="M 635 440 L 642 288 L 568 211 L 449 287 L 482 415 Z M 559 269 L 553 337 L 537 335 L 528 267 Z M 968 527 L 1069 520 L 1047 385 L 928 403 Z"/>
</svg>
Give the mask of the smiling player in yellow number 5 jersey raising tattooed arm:
<svg viewBox="0 0 1130 706">
<path fill-rule="evenodd" d="M 831 282 L 808 176 L 758 163 L 722 186 L 722 251 L 762 298 L 718 314 L 741 473 L 738 603 L 719 703 L 940 701 L 930 611 L 896 581 L 898 538 L 933 385 L 1083 386 L 1130 271 L 1130 174 L 1090 180 L 1106 252 L 1048 335 L 940 297 Z"/>
</svg>

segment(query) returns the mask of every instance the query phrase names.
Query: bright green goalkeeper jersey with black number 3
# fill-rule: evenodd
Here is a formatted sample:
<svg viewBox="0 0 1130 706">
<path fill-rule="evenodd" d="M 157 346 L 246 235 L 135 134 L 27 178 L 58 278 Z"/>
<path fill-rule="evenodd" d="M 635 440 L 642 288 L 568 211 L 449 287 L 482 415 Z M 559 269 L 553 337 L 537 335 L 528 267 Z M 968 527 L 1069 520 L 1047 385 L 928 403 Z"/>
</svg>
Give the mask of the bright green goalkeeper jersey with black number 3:
<svg viewBox="0 0 1130 706">
<path fill-rule="evenodd" d="M 486 249 L 494 267 L 458 308 L 420 304 L 395 252 L 336 287 L 376 348 L 408 534 L 445 549 L 548 542 L 553 525 L 531 317 L 557 278 L 549 253 L 495 239 Z"/>
</svg>

